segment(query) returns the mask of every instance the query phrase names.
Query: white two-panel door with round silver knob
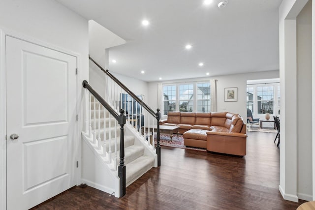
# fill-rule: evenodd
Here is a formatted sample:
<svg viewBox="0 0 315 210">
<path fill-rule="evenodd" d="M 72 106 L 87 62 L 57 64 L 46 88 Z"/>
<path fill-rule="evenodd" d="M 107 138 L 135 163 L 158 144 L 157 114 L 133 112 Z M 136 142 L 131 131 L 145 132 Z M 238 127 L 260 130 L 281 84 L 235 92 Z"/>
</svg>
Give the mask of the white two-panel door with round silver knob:
<svg viewBox="0 0 315 210">
<path fill-rule="evenodd" d="M 75 185 L 76 67 L 74 56 L 6 36 L 8 210 Z"/>
</svg>

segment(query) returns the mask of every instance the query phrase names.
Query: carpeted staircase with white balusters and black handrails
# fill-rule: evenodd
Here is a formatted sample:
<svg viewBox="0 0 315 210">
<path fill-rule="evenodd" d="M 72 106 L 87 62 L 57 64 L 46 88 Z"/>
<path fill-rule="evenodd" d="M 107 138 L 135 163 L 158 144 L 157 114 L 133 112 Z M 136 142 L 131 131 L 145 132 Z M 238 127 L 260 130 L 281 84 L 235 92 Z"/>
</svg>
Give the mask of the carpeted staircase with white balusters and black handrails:
<svg viewBox="0 0 315 210">
<path fill-rule="evenodd" d="M 121 87 L 120 92 L 110 90 L 106 101 L 87 81 L 83 82 L 86 92 L 81 181 L 115 197 L 122 197 L 126 194 L 126 186 L 152 167 L 159 166 L 159 112 L 155 114 L 116 78 L 113 81 Z M 110 87 L 113 87 L 112 83 Z M 126 94 L 140 104 L 140 113 L 135 111 L 125 115 L 120 107 L 130 109 L 123 104 L 122 95 Z M 134 122 L 134 118 L 138 120 Z M 149 132 L 146 134 L 146 131 Z M 157 148 L 153 139 L 155 131 L 158 136 Z"/>
</svg>

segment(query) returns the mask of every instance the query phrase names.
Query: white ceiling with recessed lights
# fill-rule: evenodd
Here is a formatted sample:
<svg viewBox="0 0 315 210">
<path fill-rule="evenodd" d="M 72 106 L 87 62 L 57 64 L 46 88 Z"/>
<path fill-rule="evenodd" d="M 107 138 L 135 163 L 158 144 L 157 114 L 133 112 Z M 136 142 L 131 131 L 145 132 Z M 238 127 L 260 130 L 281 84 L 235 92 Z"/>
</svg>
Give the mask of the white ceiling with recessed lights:
<svg viewBox="0 0 315 210">
<path fill-rule="evenodd" d="M 109 48 L 112 72 L 151 82 L 279 69 L 282 0 L 58 1 L 126 40 Z"/>
</svg>

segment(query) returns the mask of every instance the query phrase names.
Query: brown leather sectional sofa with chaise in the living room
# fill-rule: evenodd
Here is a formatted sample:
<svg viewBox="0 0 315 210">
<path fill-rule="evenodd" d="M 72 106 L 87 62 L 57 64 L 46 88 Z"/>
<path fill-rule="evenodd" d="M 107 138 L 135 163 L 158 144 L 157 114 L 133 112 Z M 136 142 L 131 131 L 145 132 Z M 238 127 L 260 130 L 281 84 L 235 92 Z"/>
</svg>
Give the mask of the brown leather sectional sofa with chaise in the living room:
<svg viewBox="0 0 315 210">
<path fill-rule="evenodd" d="M 159 124 L 180 126 L 185 146 L 246 155 L 246 124 L 238 114 L 168 112 L 167 119 Z"/>
</svg>

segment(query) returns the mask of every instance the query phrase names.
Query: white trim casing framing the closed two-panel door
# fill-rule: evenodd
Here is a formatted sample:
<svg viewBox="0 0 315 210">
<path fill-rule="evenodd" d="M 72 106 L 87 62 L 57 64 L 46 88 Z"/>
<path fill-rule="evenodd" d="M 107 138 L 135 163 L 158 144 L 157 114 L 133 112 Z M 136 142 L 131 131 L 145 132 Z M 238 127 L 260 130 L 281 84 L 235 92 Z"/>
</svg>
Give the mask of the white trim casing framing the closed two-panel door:
<svg viewBox="0 0 315 210">
<path fill-rule="evenodd" d="M 76 149 L 75 149 L 75 159 L 76 161 L 81 160 L 81 131 L 83 125 L 83 118 L 82 116 L 82 98 L 83 98 L 83 88 L 81 84 L 81 75 L 82 75 L 82 59 L 81 55 L 75 53 L 73 51 L 69 51 L 60 47 L 58 45 L 50 44 L 36 38 L 30 37 L 23 33 L 7 30 L 7 29 L 0 29 L 0 43 L 2 47 L 0 47 L 0 209 L 6 209 L 6 142 L 4 139 L 4 144 L 2 141 L 2 137 L 6 135 L 6 101 L 5 101 L 5 94 L 6 94 L 6 76 L 5 76 L 5 36 L 11 36 L 20 40 L 24 40 L 36 45 L 40 45 L 55 51 L 62 52 L 64 54 L 76 57 L 77 59 L 77 68 L 78 68 L 78 75 L 77 75 L 77 110 L 76 113 L 79 115 L 79 120 L 77 121 L 77 135 L 76 135 Z M 3 151 L 3 152 L 2 152 Z M 73 163 L 75 164 L 75 163 Z M 79 167 L 75 168 L 74 179 L 76 183 L 79 184 L 81 180 L 81 165 L 79 161 Z M 1 206 L 2 205 L 2 206 Z"/>
</svg>

